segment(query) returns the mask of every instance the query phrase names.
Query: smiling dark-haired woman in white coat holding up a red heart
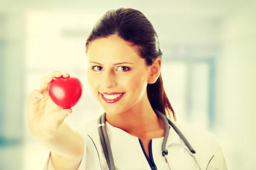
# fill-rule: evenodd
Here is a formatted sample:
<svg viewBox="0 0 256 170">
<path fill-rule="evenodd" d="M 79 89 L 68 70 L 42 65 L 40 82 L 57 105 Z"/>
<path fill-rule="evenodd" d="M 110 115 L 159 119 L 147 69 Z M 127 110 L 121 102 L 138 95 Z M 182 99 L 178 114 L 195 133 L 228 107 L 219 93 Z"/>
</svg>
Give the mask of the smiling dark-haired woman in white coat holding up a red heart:
<svg viewBox="0 0 256 170">
<path fill-rule="evenodd" d="M 45 170 L 227 169 L 215 136 L 172 122 L 196 151 L 195 160 L 175 128 L 164 123 L 170 113 L 176 116 L 163 88 L 157 34 L 140 11 L 107 11 L 86 41 L 86 54 L 90 90 L 106 113 L 86 123 L 86 134 L 64 122 L 72 109 L 59 108 L 48 95 L 49 82 L 69 74 L 53 72 L 29 96 L 29 129 L 50 150 Z M 105 128 L 108 136 L 101 140 Z M 108 141 L 111 150 L 105 150 Z"/>
</svg>

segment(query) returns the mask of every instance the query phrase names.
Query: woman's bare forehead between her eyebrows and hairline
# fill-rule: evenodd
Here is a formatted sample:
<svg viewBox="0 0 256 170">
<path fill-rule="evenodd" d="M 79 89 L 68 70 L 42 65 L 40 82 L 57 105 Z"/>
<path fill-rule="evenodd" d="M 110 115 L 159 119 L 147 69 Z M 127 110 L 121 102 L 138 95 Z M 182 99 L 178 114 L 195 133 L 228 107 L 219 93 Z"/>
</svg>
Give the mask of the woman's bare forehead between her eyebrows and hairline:
<svg viewBox="0 0 256 170">
<path fill-rule="evenodd" d="M 129 42 L 117 36 L 100 38 L 90 42 L 87 50 L 87 57 L 90 61 L 97 62 L 136 62 L 142 59 L 137 48 Z"/>
</svg>

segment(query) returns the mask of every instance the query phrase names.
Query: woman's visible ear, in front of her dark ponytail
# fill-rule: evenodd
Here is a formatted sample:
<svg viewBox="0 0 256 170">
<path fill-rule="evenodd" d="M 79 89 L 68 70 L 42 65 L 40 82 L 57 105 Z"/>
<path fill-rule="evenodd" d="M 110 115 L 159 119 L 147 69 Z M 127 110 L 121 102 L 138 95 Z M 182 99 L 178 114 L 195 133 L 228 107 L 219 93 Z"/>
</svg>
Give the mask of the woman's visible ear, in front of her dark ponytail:
<svg viewBox="0 0 256 170">
<path fill-rule="evenodd" d="M 162 64 L 162 60 L 159 57 L 157 57 L 157 59 L 155 59 L 153 64 L 150 66 L 148 84 L 153 84 L 157 81 L 161 73 L 161 64 Z"/>
</svg>

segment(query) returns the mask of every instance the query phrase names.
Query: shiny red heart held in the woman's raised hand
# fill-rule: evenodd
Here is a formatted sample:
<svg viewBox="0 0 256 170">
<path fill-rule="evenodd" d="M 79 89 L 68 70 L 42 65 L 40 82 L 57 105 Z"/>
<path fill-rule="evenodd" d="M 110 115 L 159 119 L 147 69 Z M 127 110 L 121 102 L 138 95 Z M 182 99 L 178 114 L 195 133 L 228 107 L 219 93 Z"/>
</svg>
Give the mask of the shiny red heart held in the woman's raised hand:
<svg viewBox="0 0 256 170">
<path fill-rule="evenodd" d="M 48 93 L 52 101 L 62 109 L 72 108 L 83 94 L 83 85 L 76 77 L 55 77 L 49 83 Z"/>
</svg>

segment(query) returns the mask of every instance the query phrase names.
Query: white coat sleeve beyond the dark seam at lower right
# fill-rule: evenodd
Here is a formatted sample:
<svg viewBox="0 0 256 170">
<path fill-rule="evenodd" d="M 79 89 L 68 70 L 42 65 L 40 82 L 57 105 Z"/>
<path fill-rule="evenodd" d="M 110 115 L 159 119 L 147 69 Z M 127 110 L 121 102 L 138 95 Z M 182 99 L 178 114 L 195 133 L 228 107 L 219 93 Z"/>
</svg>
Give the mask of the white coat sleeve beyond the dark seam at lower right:
<svg viewBox="0 0 256 170">
<path fill-rule="evenodd" d="M 227 164 L 218 141 L 215 153 L 208 163 L 207 170 L 227 170 Z"/>
</svg>

